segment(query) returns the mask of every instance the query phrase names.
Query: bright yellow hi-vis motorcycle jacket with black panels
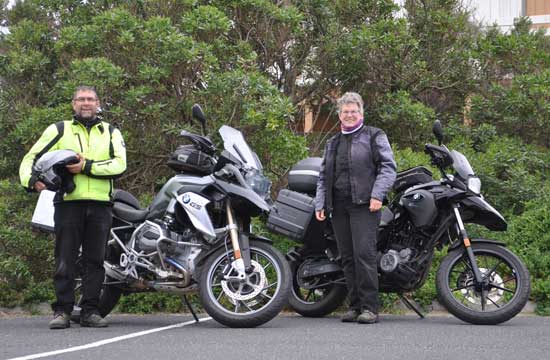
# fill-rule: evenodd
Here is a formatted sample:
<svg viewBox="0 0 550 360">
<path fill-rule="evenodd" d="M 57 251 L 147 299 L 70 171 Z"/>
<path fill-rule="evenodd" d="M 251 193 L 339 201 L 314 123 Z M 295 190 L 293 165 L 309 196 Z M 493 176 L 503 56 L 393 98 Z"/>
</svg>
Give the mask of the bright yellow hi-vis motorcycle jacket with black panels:
<svg viewBox="0 0 550 360">
<path fill-rule="evenodd" d="M 75 190 L 64 194 L 63 200 L 110 201 L 113 179 L 126 170 L 126 147 L 120 131 L 104 121 L 89 131 L 76 120 L 50 125 L 21 162 L 21 184 L 32 190 L 36 182 L 32 176 L 34 163 L 46 152 L 62 149 L 86 158 L 82 172 L 74 176 Z"/>
</svg>

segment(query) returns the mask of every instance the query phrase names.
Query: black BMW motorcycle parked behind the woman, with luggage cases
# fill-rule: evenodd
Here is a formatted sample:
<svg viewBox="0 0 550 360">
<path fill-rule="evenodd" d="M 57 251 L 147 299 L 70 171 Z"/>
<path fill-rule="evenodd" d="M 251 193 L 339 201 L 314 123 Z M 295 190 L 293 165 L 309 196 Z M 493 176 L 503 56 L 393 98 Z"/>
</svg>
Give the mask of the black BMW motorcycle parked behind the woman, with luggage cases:
<svg viewBox="0 0 550 360">
<path fill-rule="evenodd" d="M 398 173 L 394 196 L 383 209 L 378 229 L 381 292 L 396 293 L 421 317 L 404 294 L 423 286 L 434 252 L 448 246 L 436 278 L 439 301 L 472 324 L 499 324 L 517 315 L 530 292 L 529 273 L 505 244 L 470 239 L 465 223 L 505 231 L 506 221 L 480 193 L 481 182 L 467 158 L 441 145 L 441 124 L 434 124 L 439 146 L 425 152 L 442 175 L 434 181 L 423 166 Z M 345 300 L 347 290 L 329 221 L 318 222 L 313 198 L 320 158 L 308 158 L 289 173 L 289 190 L 279 193 L 268 227 L 304 245 L 287 253 L 293 273 L 290 306 L 308 317 L 325 316 Z M 445 170 L 454 169 L 454 175 Z"/>
</svg>

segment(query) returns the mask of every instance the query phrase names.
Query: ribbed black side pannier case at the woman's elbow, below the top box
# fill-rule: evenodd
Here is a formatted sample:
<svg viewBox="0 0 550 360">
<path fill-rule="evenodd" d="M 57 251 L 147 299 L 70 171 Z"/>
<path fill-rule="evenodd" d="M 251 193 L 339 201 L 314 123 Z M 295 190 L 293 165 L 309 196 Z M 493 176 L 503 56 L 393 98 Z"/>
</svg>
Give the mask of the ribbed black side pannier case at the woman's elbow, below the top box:
<svg viewBox="0 0 550 360">
<path fill-rule="evenodd" d="M 269 213 L 267 228 L 291 239 L 303 241 L 315 213 L 313 200 L 306 194 L 281 190 Z"/>
</svg>

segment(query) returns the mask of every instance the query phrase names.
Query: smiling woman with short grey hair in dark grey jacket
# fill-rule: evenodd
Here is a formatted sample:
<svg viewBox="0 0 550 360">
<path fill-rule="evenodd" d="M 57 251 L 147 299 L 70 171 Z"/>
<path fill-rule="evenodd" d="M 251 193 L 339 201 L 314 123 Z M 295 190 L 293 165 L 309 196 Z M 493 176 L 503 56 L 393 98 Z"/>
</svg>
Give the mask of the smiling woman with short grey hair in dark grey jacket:
<svg viewBox="0 0 550 360">
<path fill-rule="evenodd" d="M 331 216 L 349 291 L 344 322 L 378 322 L 376 234 L 380 209 L 396 176 L 386 134 L 363 124 L 363 99 L 338 99 L 341 132 L 330 138 L 317 183 L 316 217 Z"/>
</svg>

